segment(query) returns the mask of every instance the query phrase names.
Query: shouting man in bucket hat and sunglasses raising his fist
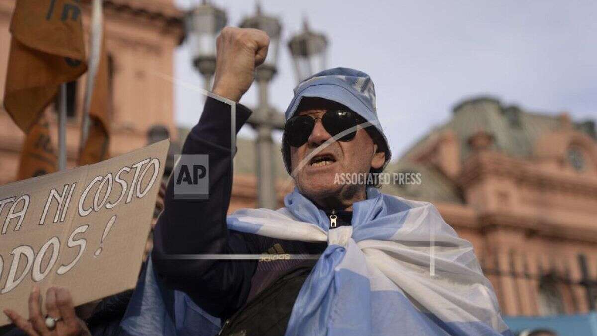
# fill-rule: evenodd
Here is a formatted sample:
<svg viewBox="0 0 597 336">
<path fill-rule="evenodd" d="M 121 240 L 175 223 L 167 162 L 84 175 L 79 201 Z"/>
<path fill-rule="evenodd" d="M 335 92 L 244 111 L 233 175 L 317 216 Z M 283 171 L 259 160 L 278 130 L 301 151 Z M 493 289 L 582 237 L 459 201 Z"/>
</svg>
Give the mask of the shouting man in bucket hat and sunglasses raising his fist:
<svg viewBox="0 0 597 336">
<path fill-rule="evenodd" d="M 213 93 L 239 102 L 268 45 L 260 30 L 224 28 Z M 183 155 L 209 155 L 209 198 L 175 199 L 170 179 L 154 233 L 158 282 L 184 293 L 168 313 L 176 334 L 220 329 L 206 331 L 201 316 L 193 324 L 193 311 L 220 322 L 223 335 L 508 334 L 470 244 L 433 206 L 368 185 L 334 184 L 340 173 L 381 172 L 390 159 L 368 75 L 330 69 L 294 92 L 282 156 L 296 190 L 284 208 L 226 215 L 232 190 L 226 103 L 208 98 L 184 143 Z M 237 132 L 250 114 L 236 105 Z M 263 253 L 316 258 L 172 257 Z M 133 325 L 127 330 L 143 328 Z"/>
</svg>

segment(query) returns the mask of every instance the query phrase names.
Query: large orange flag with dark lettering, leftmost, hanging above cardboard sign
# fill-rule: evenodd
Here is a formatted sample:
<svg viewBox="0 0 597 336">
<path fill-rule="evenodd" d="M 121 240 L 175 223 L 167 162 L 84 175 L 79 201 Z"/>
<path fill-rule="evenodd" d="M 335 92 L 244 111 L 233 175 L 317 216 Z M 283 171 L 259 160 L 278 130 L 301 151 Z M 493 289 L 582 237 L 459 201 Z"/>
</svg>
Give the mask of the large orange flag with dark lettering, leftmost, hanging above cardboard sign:
<svg viewBox="0 0 597 336">
<path fill-rule="evenodd" d="M 85 70 L 81 8 L 75 0 L 18 0 L 10 26 L 4 106 L 26 139 L 17 177 L 56 171 L 44 109 L 61 83 Z"/>
</svg>

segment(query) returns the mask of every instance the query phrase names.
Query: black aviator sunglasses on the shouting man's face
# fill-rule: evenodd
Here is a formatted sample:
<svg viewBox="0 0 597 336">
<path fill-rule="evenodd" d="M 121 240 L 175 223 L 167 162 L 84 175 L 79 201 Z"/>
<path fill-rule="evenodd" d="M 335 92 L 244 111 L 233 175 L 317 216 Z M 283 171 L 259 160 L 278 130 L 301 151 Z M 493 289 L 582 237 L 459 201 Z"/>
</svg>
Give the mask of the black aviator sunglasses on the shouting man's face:
<svg viewBox="0 0 597 336">
<path fill-rule="evenodd" d="M 321 119 L 321 124 L 326 132 L 331 136 L 336 136 L 345 130 L 355 127 L 362 118 L 359 118 L 355 112 L 343 109 L 330 110 L 324 113 L 321 118 L 315 118 L 308 114 L 297 115 L 288 119 L 284 126 L 284 141 L 293 147 L 300 147 L 309 141 L 309 136 L 315 129 L 315 123 Z M 356 129 L 342 138 L 340 141 L 350 141 L 355 138 Z"/>
</svg>

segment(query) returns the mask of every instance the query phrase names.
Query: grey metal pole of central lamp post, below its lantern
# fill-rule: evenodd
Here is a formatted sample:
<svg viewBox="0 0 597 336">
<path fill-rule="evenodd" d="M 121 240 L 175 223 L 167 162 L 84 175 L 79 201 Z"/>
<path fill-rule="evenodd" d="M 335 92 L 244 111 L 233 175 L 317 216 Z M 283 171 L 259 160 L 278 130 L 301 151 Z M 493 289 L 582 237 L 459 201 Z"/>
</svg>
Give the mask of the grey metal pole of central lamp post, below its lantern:
<svg viewBox="0 0 597 336">
<path fill-rule="evenodd" d="M 269 105 L 267 103 L 267 78 L 257 77 L 259 85 L 259 105 L 257 114 L 259 120 L 269 119 Z M 275 172 L 273 169 L 272 155 L 272 127 L 267 123 L 261 123 L 257 126 L 257 204 L 259 207 L 276 209 L 278 202 L 276 199 Z"/>
</svg>

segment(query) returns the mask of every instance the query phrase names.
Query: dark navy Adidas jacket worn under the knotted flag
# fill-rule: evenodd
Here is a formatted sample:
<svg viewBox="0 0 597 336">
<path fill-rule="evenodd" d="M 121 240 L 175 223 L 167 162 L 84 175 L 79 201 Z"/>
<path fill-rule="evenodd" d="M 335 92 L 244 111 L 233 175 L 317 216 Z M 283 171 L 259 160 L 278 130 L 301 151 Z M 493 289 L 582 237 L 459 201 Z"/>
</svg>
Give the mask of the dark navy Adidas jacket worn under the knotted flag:
<svg viewBox="0 0 597 336">
<path fill-rule="evenodd" d="M 236 132 L 251 115 L 236 105 Z M 209 155 L 209 198 L 176 199 L 170 178 L 164 210 L 153 234 L 153 264 L 166 286 L 185 292 L 213 316 L 226 319 L 296 260 L 258 262 L 172 260 L 168 254 L 261 254 L 324 251 L 326 243 L 290 242 L 227 230 L 232 192 L 230 106 L 208 98 L 199 123 L 187 136 L 181 154 Z M 330 210 L 331 212 L 331 210 Z M 338 212 L 338 225 L 350 225 L 350 212 Z"/>
</svg>

